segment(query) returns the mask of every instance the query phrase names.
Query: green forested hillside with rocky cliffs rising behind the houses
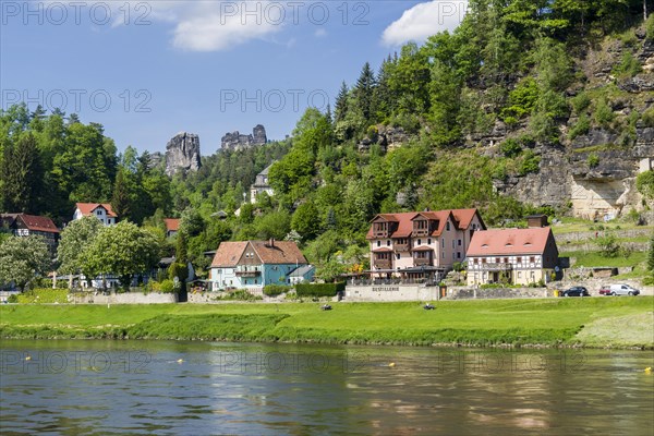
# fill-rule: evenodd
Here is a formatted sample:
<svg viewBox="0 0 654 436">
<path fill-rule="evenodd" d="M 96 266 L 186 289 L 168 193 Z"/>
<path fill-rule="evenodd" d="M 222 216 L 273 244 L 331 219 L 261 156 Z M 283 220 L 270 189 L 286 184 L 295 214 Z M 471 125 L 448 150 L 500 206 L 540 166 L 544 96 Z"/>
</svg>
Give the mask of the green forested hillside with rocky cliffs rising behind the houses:
<svg viewBox="0 0 654 436">
<path fill-rule="evenodd" d="M 379 211 L 479 207 L 493 225 L 583 210 L 574 186 L 625 180 L 646 208 L 654 177 L 635 180 L 633 162 L 654 156 L 651 9 L 642 0 L 472 0 L 452 34 L 362 60 L 332 111 L 308 109 L 290 140 L 219 152 L 172 180 L 147 153 L 117 156 L 100 125 L 12 107 L 0 114 L 2 210 L 61 222 L 74 202 L 111 202 L 137 223 L 183 216 L 201 267 L 220 240 L 291 238 L 328 274 L 343 261 L 361 267 Z M 276 195 L 242 205 L 272 161 Z"/>
</svg>

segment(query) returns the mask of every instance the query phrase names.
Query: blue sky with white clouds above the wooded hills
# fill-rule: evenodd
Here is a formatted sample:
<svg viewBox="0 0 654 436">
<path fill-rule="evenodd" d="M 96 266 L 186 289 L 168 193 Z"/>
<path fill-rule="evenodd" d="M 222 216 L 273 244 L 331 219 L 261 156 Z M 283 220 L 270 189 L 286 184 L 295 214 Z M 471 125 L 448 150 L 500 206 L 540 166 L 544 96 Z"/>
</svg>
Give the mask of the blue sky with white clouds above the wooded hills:
<svg viewBox="0 0 654 436">
<path fill-rule="evenodd" d="M 456 28 L 463 1 L 0 0 L 0 108 L 78 113 L 140 152 L 179 132 L 282 140 L 307 107 L 410 40 Z"/>
</svg>

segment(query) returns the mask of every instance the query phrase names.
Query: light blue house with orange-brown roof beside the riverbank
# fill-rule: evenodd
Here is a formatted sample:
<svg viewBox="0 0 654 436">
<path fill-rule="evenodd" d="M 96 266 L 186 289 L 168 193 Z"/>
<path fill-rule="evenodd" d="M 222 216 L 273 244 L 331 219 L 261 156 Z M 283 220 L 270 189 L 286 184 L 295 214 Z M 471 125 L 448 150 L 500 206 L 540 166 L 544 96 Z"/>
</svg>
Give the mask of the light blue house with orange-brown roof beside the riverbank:
<svg viewBox="0 0 654 436">
<path fill-rule="evenodd" d="M 211 262 L 210 289 L 259 291 L 266 284 L 290 284 L 291 274 L 306 265 L 292 241 L 222 242 Z"/>
</svg>

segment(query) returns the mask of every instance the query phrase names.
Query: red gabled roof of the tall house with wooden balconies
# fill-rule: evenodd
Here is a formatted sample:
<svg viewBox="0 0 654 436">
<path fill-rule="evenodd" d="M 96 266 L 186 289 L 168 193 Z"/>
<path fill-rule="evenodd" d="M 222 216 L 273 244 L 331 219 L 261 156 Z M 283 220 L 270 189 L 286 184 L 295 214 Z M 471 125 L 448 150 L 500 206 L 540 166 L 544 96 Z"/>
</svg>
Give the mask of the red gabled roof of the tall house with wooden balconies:
<svg viewBox="0 0 654 436">
<path fill-rule="evenodd" d="M 407 238 L 413 231 L 413 220 L 417 217 L 425 217 L 429 220 L 438 221 L 438 227 L 432 233 L 433 237 L 439 237 L 445 229 L 447 217 L 451 216 L 451 220 L 459 230 L 467 230 L 474 216 L 477 216 L 480 222 L 485 227 L 482 217 L 477 209 L 446 209 L 446 210 L 426 210 L 426 211 L 407 211 L 399 214 L 378 214 L 371 220 L 371 228 L 366 234 L 366 239 L 373 239 L 373 226 L 375 221 L 384 220 L 388 222 L 397 222 L 397 230 L 390 238 Z"/>
</svg>

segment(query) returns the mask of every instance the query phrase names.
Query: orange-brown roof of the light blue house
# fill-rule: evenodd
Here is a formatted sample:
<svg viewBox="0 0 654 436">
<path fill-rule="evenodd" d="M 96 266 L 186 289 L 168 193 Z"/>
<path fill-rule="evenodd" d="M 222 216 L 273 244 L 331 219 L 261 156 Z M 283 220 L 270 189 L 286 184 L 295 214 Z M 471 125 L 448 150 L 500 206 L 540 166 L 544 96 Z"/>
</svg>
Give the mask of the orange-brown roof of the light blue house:
<svg viewBox="0 0 654 436">
<path fill-rule="evenodd" d="M 264 264 L 307 264 L 306 258 L 293 241 L 239 241 L 221 242 L 211 267 L 234 267 L 251 245 Z"/>
</svg>

